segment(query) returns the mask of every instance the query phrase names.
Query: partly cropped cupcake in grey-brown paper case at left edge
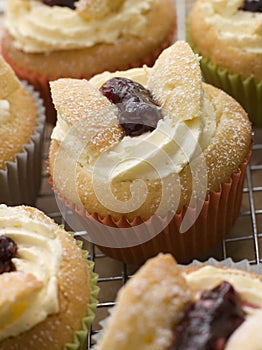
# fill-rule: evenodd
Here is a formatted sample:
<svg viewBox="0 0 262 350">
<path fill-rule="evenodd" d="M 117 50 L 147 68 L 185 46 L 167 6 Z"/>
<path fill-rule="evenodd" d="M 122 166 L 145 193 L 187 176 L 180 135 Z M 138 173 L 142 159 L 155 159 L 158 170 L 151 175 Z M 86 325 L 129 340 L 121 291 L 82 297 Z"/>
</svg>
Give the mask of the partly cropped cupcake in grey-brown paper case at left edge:
<svg viewBox="0 0 262 350">
<path fill-rule="evenodd" d="M 0 203 L 33 205 L 41 182 L 45 110 L 0 56 Z"/>
</svg>

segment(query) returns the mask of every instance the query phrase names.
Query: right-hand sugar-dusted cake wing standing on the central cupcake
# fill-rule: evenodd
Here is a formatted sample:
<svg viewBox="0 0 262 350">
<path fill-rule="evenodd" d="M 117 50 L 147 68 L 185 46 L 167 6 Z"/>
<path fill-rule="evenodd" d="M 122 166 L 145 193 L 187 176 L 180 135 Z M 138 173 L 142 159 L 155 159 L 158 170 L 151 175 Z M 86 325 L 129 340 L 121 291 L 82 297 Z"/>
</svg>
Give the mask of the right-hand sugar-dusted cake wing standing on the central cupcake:
<svg viewBox="0 0 262 350">
<path fill-rule="evenodd" d="M 177 41 L 161 53 L 147 86 L 174 124 L 200 116 L 201 70 L 198 57 L 186 42 Z"/>
</svg>

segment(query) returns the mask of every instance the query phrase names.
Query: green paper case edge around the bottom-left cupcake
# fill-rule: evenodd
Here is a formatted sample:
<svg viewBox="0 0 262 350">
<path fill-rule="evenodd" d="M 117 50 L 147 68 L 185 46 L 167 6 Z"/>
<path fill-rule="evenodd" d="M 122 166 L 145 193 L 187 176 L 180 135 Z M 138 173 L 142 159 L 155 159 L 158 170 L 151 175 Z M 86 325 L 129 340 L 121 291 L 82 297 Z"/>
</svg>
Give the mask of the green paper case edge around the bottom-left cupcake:
<svg viewBox="0 0 262 350">
<path fill-rule="evenodd" d="M 77 241 L 78 246 L 82 247 L 82 242 Z M 97 295 L 99 287 L 97 286 L 98 275 L 93 272 L 94 262 L 88 260 L 88 252 L 83 250 L 83 257 L 88 264 L 88 268 L 91 274 L 91 291 L 90 291 L 90 303 L 87 305 L 86 316 L 82 318 L 82 327 L 74 333 L 74 337 L 71 343 L 64 345 L 64 350 L 86 350 L 87 337 L 91 329 L 91 325 L 95 318 L 95 310 L 97 307 Z"/>
</svg>

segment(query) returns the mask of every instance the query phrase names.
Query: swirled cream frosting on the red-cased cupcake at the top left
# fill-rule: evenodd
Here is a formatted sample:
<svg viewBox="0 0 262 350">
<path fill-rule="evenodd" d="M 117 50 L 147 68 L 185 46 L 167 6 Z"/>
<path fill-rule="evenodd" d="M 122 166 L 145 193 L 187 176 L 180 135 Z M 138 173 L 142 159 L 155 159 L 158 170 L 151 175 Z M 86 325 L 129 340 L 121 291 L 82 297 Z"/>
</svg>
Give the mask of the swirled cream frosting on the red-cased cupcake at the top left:
<svg viewBox="0 0 262 350">
<path fill-rule="evenodd" d="M 38 0 L 10 0 L 7 28 L 18 49 L 45 53 L 114 43 L 119 37 L 143 37 L 148 14 L 158 0 L 124 1 L 118 11 L 102 18 L 83 18 L 68 7 L 47 6 Z"/>
</svg>

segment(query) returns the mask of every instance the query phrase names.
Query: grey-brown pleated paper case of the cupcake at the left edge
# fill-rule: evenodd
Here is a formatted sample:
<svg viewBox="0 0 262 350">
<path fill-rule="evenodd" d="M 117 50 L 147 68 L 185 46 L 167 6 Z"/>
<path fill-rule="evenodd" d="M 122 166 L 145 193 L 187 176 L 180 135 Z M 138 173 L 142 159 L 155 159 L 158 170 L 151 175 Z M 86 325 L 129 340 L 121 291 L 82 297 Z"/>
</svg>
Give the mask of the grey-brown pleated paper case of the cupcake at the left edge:
<svg viewBox="0 0 262 350">
<path fill-rule="evenodd" d="M 41 184 L 45 108 L 39 93 L 27 82 L 23 84 L 34 97 L 38 117 L 34 133 L 23 151 L 0 170 L 0 202 L 7 205 L 34 205 Z"/>
</svg>

